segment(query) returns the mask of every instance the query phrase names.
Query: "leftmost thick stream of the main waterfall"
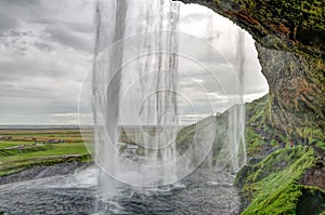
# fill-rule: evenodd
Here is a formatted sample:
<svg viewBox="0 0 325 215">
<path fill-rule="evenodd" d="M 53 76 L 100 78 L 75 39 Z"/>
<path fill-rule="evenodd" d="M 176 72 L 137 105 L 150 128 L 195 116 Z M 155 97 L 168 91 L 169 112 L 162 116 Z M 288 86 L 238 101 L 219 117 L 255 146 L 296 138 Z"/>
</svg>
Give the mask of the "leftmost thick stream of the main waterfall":
<svg viewBox="0 0 325 215">
<path fill-rule="evenodd" d="M 106 10 L 115 11 L 110 17 L 104 17 Z M 113 10 L 114 9 L 114 10 Z M 95 127 L 95 162 L 99 166 L 109 165 L 113 173 L 118 171 L 116 143 L 118 143 L 118 115 L 119 115 L 119 91 L 121 79 L 121 65 L 123 56 L 123 43 L 116 43 L 125 37 L 126 16 L 128 1 L 98 1 L 96 4 L 96 45 L 95 57 L 106 45 L 113 46 L 110 53 L 105 53 L 101 61 L 95 62 L 93 67 L 93 112 Z M 110 15 L 110 14 L 109 14 Z M 109 18 L 109 19 L 108 19 Z M 110 23 L 112 22 L 112 23 Z M 107 24 L 110 24 L 106 26 Z M 113 159 L 112 159 L 113 158 Z M 101 189 L 109 189 L 107 185 L 107 170 L 99 171 L 99 185 Z"/>
</svg>

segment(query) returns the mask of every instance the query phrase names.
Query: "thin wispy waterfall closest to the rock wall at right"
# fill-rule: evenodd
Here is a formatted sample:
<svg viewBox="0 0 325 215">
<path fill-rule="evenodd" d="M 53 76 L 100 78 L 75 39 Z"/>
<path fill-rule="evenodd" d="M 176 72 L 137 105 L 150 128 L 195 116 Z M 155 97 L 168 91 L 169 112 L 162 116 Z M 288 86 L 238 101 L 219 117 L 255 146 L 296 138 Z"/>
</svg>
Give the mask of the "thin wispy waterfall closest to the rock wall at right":
<svg viewBox="0 0 325 215">
<path fill-rule="evenodd" d="M 207 40 L 213 45 L 214 41 L 218 41 L 219 36 L 211 11 L 208 11 Z M 232 37 L 234 37 L 235 50 L 234 58 L 229 64 L 233 64 L 232 79 L 234 79 L 233 83 L 235 84 L 225 83 L 224 90 L 229 92 L 226 93 L 229 108 L 223 112 L 222 118 L 217 116 L 213 150 L 209 153 L 206 164 L 212 170 L 222 171 L 227 169 L 232 173 L 236 173 L 247 160 L 244 136 L 245 32 L 238 28 L 234 30 Z M 232 90 L 227 88 L 232 88 Z"/>
</svg>

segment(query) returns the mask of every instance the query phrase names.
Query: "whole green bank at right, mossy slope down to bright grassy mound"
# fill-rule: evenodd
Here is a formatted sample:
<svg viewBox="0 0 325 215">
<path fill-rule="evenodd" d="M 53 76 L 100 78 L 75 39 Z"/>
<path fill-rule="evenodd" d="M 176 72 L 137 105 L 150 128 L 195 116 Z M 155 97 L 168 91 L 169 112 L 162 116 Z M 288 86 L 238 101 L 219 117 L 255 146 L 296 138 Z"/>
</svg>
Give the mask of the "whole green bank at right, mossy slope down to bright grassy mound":
<svg viewBox="0 0 325 215">
<path fill-rule="evenodd" d="M 235 179 L 243 214 L 318 214 L 325 211 L 325 143 L 315 132 L 297 137 L 274 127 L 271 108 L 270 95 L 246 105 L 250 162 Z"/>
</svg>

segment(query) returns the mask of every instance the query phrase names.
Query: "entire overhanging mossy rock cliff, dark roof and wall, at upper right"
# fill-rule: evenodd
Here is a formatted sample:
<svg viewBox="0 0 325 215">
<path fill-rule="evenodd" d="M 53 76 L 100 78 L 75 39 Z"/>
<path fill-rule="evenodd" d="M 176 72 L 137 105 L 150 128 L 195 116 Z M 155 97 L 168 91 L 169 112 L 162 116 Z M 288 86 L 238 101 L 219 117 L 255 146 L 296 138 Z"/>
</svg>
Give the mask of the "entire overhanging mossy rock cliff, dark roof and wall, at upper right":
<svg viewBox="0 0 325 215">
<path fill-rule="evenodd" d="M 257 41 L 270 85 L 264 122 L 288 138 L 325 139 L 325 2 L 181 0 L 229 17 Z"/>
</svg>

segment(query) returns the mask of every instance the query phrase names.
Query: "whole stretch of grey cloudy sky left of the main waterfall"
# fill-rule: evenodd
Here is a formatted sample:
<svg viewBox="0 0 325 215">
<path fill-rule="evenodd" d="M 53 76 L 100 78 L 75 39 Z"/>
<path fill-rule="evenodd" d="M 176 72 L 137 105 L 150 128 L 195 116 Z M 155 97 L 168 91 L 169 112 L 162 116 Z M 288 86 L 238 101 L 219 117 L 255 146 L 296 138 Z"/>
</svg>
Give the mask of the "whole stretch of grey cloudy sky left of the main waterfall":
<svg viewBox="0 0 325 215">
<path fill-rule="evenodd" d="M 94 44 L 92 5 L 0 2 L 0 123 L 77 123 Z M 54 117 L 66 112 L 74 115 Z"/>
</svg>

